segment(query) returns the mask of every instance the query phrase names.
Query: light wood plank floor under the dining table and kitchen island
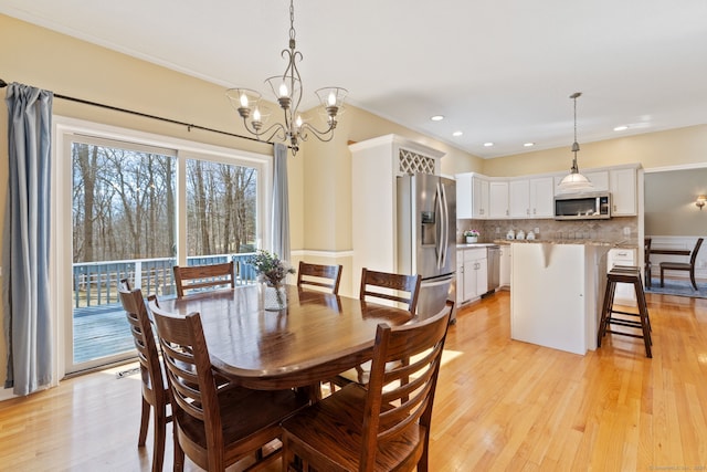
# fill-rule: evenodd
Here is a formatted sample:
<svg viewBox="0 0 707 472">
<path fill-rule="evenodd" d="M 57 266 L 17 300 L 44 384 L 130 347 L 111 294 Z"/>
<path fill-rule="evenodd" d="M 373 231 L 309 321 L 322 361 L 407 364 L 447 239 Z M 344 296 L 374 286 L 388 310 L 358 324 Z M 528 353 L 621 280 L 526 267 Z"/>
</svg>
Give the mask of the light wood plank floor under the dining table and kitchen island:
<svg viewBox="0 0 707 472">
<path fill-rule="evenodd" d="M 648 308 L 653 359 L 612 335 L 587 356 L 510 340 L 507 292 L 461 311 L 431 470 L 707 470 L 707 300 L 650 294 Z M 0 403 L 0 470 L 149 470 L 139 391 L 137 376 L 109 370 Z"/>
</svg>

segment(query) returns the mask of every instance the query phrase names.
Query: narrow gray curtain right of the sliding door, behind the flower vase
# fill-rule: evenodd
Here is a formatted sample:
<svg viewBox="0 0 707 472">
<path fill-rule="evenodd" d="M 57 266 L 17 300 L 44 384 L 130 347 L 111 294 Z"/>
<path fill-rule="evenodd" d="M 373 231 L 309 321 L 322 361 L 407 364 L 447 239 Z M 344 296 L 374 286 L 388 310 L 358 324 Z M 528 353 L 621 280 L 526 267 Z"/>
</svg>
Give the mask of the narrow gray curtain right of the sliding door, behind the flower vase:
<svg viewBox="0 0 707 472">
<path fill-rule="evenodd" d="M 289 200 L 287 197 L 287 146 L 273 146 L 273 252 L 279 259 L 291 261 L 289 252 Z"/>
</svg>

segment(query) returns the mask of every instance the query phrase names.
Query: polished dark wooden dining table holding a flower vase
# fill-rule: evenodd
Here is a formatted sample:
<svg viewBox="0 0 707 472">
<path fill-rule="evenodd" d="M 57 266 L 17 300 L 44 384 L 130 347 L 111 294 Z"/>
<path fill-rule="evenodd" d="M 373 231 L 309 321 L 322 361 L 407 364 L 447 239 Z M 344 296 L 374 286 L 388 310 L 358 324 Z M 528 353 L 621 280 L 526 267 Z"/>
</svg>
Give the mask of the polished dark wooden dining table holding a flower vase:
<svg viewBox="0 0 707 472">
<path fill-rule="evenodd" d="M 263 310 L 260 285 L 160 300 L 180 315 L 198 312 L 213 368 L 253 389 L 313 387 L 372 357 L 379 323 L 408 311 L 287 285 L 287 308 Z"/>
</svg>

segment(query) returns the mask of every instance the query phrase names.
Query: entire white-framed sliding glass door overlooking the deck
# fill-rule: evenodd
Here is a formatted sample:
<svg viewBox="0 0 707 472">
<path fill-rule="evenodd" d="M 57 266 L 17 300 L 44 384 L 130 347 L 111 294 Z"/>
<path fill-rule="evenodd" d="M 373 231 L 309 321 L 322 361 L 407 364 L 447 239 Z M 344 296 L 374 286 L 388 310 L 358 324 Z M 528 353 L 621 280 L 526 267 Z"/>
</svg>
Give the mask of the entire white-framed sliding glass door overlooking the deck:
<svg viewBox="0 0 707 472">
<path fill-rule="evenodd" d="M 68 135 L 71 323 L 65 370 L 135 356 L 117 285 L 175 296 L 172 266 L 229 260 L 239 283 L 263 231 L 263 162 Z M 181 176 L 181 177 L 180 177 Z M 67 190 L 68 191 L 68 190 Z M 180 230 L 181 229 L 181 230 Z M 64 271 L 66 273 L 66 271 Z"/>
</svg>

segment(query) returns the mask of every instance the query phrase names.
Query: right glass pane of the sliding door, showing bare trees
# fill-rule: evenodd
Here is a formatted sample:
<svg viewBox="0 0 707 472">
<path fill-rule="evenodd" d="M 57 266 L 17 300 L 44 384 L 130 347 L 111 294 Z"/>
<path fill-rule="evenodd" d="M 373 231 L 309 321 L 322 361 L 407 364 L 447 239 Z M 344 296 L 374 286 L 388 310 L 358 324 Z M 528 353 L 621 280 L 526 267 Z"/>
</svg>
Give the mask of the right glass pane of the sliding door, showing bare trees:
<svg viewBox="0 0 707 472">
<path fill-rule="evenodd" d="M 189 256 L 253 252 L 257 234 L 257 169 L 187 161 Z"/>
</svg>

